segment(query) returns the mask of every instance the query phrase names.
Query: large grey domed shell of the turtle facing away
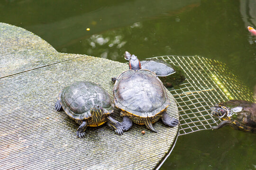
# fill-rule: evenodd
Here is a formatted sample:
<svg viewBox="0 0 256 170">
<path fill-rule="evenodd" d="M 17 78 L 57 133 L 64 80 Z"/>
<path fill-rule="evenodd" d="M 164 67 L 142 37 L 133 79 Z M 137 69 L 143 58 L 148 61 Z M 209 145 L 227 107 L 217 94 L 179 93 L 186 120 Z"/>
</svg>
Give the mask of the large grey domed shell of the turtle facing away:
<svg viewBox="0 0 256 170">
<path fill-rule="evenodd" d="M 170 105 L 161 80 L 146 69 L 120 74 L 113 95 L 119 109 L 139 117 L 154 117 Z"/>
</svg>

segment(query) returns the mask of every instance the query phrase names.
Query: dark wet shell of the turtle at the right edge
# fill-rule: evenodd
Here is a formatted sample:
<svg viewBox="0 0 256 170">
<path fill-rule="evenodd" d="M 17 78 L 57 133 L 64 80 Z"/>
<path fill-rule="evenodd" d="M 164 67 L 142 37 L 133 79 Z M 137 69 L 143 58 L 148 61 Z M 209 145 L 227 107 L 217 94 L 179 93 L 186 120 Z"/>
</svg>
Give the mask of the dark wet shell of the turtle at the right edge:
<svg viewBox="0 0 256 170">
<path fill-rule="evenodd" d="M 231 100 L 219 103 L 220 107 L 227 107 L 232 116 L 225 117 L 239 128 L 256 132 L 256 103 Z"/>
</svg>

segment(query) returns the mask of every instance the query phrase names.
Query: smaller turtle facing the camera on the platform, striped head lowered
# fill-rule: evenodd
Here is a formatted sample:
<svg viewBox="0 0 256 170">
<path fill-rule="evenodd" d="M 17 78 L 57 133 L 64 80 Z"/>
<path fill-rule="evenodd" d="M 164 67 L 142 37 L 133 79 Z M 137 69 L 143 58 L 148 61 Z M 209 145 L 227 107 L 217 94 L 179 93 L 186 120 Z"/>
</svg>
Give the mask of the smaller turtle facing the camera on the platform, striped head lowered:
<svg viewBox="0 0 256 170">
<path fill-rule="evenodd" d="M 76 131 L 79 138 L 85 137 L 86 127 L 98 127 L 105 122 L 119 135 L 123 134 L 119 121 L 110 117 L 114 104 L 109 93 L 90 81 L 76 81 L 65 87 L 58 96 L 55 110 L 64 110 L 80 126 Z"/>
</svg>

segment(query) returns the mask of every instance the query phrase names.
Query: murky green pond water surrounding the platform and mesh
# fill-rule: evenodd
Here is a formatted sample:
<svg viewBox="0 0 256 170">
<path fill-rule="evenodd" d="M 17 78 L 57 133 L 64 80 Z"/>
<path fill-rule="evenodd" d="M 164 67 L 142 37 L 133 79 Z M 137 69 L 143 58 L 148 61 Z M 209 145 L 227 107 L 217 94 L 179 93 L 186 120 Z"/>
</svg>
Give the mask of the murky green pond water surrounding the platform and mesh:
<svg viewBox="0 0 256 170">
<path fill-rule="evenodd" d="M 23 27 L 57 51 L 126 62 L 200 55 L 256 85 L 255 0 L 1 0 L 0 22 Z M 90 28 L 90 31 L 86 29 Z M 224 127 L 179 136 L 161 170 L 255 170 L 256 134 Z"/>
</svg>

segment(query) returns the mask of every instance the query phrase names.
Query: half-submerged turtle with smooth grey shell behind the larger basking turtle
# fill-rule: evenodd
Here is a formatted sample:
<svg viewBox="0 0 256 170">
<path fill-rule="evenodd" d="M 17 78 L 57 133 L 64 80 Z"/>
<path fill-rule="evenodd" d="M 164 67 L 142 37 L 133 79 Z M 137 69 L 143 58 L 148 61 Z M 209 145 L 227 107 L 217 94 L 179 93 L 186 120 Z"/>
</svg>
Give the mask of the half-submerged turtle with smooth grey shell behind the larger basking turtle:
<svg viewBox="0 0 256 170">
<path fill-rule="evenodd" d="M 184 71 L 178 66 L 174 66 L 160 59 L 146 59 L 140 61 L 142 69 L 153 71 L 163 82 L 165 87 L 174 87 L 180 85 L 186 79 Z"/>
</svg>

